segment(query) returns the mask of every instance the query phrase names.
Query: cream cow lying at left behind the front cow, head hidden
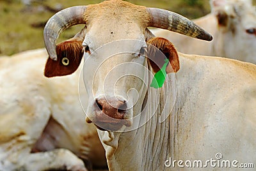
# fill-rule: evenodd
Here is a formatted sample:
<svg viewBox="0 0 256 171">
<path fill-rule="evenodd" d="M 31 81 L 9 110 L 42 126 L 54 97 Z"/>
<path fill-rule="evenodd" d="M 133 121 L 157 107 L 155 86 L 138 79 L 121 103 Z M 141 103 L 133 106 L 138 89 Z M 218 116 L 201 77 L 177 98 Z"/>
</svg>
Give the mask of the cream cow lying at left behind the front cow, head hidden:
<svg viewBox="0 0 256 171">
<path fill-rule="evenodd" d="M 46 60 L 45 48 L 0 58 L 0 170 L 107 167 L 95 126 L 85 124 L 79 71 L 47 79 Z"/>
</svg>

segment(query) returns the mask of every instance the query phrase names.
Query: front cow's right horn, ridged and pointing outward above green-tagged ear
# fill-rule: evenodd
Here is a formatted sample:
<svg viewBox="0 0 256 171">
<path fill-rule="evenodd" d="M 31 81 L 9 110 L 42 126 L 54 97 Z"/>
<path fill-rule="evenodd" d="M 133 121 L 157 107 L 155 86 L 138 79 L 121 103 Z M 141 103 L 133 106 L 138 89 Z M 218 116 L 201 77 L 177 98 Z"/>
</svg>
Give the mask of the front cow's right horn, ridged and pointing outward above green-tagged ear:
<svg viewBox="0 0 256 171">
<path fill-rule="evenodd" d="M 147 8 L 151 16 L 148 27 L 168 29 L 186 36 L 211 41 L 211 34 L 198 27 L 194 22 L 171 11 L 159 8 Z"/>
</svg>

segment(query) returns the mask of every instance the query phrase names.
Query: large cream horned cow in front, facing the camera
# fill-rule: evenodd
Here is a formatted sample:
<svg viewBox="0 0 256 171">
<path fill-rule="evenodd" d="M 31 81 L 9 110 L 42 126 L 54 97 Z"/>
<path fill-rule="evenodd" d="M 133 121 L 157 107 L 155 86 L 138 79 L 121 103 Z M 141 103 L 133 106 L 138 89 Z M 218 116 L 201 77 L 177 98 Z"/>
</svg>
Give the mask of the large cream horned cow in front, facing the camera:
<svg viewBox="0 0 256 171">
<path fill-rule="evenodd" d="M 76 24 L 86 25 L 83 34 L 56 45 Z M 187 160 L 198 167 L 201 160 L 207 170 L 223 169 L 209 163 L 221 159 L 234 169 L 255 163 L 256 66 L 182 54 L 147 27 L 212 40 L 172 11 L 120 0 L 61 10 L 44 29 L 46 77 L 68 75 L 84 58 L 88 101 L 81 103 L 86 122 L 97 126 L 109 170 L 179 170 L 177 163 L 191 169 Z M 163 85 L 151 87 L 159 71 L 166 74 L 156 78 Z"/>
</svg>

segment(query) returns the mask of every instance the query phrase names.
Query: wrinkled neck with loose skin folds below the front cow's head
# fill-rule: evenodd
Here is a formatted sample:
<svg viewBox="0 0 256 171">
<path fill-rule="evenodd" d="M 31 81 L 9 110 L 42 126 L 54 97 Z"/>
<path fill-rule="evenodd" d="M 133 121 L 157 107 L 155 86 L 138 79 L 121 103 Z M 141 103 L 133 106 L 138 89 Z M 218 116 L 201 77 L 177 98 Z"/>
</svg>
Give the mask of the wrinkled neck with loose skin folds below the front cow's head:
<svg viewBox="0 0 256 171">
<path fill-rule="evenodd" d="M 159 163 L 164 167 L 164 161 L 172 154 L 174 133 L 170 131 L 175 131 L 174 123 L 177 119 L 174 115 L 168 116 L 175 99 L 175 91 L 172 89 L 175 76 L 169 75 L 167 79 L 161 89 L 148 89 L 147 93 L 151 98 L 148 99 L 150 105 L 147 106 L 146 114 L 150 117 L 148 114 L 154 113 L 155 109 L 156 113 L 147 123 L 137 130 L 124 133 L 99 131 L 106 149 L 109 170 L 152 170 L 156 168 L 152 163 Z M 168 105 L 165 105 L 166 101 Z M 160 123 L 162 113 L 167 115 L 164 116 L 164 122 Z"/>
</svg>

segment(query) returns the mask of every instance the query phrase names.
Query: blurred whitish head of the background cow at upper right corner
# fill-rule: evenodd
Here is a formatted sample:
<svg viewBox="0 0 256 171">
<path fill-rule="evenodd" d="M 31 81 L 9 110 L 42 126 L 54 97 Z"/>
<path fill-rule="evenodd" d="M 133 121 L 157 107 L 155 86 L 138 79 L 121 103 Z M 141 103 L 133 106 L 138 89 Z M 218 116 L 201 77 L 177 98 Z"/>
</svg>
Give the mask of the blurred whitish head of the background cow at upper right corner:
<svg viewBox="0 0 256 171">
<path fill-rule="evenodd" d="M 225 52 L 220 52 L 220 54 L 228 54 L 230 57 L 241 60 L 246 60 L 246 57 L 255 57 L 256 8 L 252 1 L 211 0 L 211 6 L 212 13 L 218 20 L 218 33 L 220 33 L 218 36 L 220 42 L 216 42 L 216 45 L 225 46 L 223 48 Z M 223 45 L 221 41 L 228 43 Z M 256 57 L 254 62 L 256 63 Z"/>
</svg>

